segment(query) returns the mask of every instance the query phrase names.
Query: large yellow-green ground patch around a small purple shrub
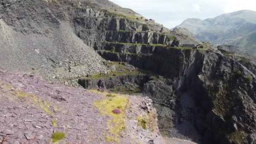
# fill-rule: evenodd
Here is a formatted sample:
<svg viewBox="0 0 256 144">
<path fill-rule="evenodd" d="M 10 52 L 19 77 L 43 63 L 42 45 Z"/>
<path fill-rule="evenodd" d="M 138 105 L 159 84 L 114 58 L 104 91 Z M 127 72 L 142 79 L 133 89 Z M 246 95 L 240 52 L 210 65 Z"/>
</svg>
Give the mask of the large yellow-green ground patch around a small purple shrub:
<svg viewBox="0 0 256 144">
<path fill-rule="evenodd" d="M 115 97 L 107 96 L 105 99 L 94 101 L 94 107 L 97 107 L 101 115 L 108 115 L 112 119 L 107 121 L 109 135 L 105 135 L 107 141 L 119 142 L 119 132 L 125 128 L 125 108 L 128 106 L 128 98 L 121 95 Z M 120 109 L 120 114 L 115 114 L 112 111 Z"/>
</svg>

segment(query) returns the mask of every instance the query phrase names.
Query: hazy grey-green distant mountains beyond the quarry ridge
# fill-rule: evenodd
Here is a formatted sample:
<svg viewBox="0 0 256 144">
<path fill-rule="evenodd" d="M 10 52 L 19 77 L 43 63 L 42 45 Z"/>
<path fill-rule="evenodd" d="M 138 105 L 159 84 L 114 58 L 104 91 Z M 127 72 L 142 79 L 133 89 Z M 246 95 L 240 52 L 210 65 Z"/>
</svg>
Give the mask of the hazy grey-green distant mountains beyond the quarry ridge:
<svg viewBox="0 0 256 144">
<path fill-rule="evenodd" d="M 233 45 L 256 56 L 256 11 L 242 10 L 212 19 L 187 19 L 179 26 L 215 46 Z"/>
</svg>

